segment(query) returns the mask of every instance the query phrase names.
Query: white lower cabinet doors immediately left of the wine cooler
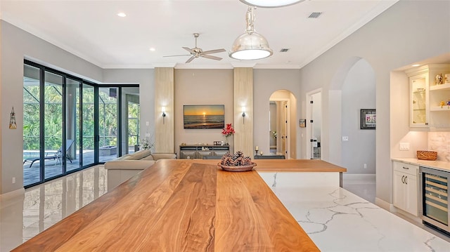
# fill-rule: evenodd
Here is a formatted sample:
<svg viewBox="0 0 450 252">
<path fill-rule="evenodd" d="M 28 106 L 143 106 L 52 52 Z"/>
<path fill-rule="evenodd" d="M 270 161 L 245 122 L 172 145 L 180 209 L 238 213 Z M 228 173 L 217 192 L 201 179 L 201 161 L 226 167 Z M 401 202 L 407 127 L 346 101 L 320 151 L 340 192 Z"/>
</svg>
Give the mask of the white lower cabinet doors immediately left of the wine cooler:
<svg viewBox="0 0 450 252">
<path fill-rule="evenodd" d="M 393 204 L 403 211 L 418 216 L 419 166 L 393 161 Z"/>
</svg>

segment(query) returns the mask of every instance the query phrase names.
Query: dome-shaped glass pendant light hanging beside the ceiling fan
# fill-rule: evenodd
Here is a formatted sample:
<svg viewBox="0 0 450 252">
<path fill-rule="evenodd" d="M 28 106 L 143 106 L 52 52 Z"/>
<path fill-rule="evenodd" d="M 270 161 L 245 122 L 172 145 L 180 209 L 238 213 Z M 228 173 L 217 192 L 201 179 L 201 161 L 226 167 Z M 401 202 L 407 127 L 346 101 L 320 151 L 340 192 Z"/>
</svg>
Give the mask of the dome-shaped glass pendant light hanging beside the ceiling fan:
<svg viewBox="0 0 450 252">
<path fill-rule="evenodd" d="M 245 15 L 247 21 L 247 29 L 245 33 L 240 35 L 231 46 L 230 58 L 236 60 L 259 60 L 267 58 L 274 54 L 266 38 L 261 34 L 255 32 L 253 15 L 253 8 L 248 6 L 247 14 Z"/>
</svg>

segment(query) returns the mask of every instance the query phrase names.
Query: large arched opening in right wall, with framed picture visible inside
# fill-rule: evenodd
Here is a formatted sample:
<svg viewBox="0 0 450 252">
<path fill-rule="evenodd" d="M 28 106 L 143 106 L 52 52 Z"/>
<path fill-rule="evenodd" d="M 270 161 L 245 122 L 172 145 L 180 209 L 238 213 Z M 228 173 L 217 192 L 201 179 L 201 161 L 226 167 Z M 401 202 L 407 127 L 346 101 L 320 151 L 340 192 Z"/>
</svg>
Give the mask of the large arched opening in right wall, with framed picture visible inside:
<svg viewBox="0 0 450 252">
<path fill-rule="evenodd" d="M 329 160 L 347 168 L 345 189 L 372 202 L 375 201 L 376 130 L 361 127 L 361 110 L 375 109 L 375 98 L 373 67 L 362 58 L 349 58 L 330 85 L 329 118 L 336 127 L 330 126 Z"/>
</svg>

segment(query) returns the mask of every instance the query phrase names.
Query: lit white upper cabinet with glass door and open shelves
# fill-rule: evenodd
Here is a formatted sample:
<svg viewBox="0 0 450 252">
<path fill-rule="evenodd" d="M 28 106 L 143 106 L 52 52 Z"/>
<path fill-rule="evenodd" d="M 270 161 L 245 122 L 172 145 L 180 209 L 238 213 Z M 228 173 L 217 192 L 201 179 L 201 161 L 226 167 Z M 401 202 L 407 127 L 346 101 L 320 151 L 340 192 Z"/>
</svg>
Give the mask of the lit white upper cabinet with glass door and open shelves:
<svg viewBox="0 0 450 252">
<path fill-rule="evenodd" d="M 406 71 L 409 77 L 410 112 L 412 128 L 450 129 L 450 64 L 423 65 Z M 444 77 L 437 83 L 436 77 Z"/>
</svg>

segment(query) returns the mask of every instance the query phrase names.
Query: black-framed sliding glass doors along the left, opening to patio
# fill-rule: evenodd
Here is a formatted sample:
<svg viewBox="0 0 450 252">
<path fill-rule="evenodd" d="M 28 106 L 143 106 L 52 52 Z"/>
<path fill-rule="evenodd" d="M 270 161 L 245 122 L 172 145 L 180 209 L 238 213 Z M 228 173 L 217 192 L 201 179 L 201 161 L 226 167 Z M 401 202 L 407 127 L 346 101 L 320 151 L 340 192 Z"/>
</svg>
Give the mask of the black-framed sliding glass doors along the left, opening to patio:
<svg viewBox="0 0 450 252">
<path fill-rule="evenodd" d="M 116 159 L 138 144 L 139 86 L 93 84 L 25 60 L 25 187 Z"/>
</svg>

